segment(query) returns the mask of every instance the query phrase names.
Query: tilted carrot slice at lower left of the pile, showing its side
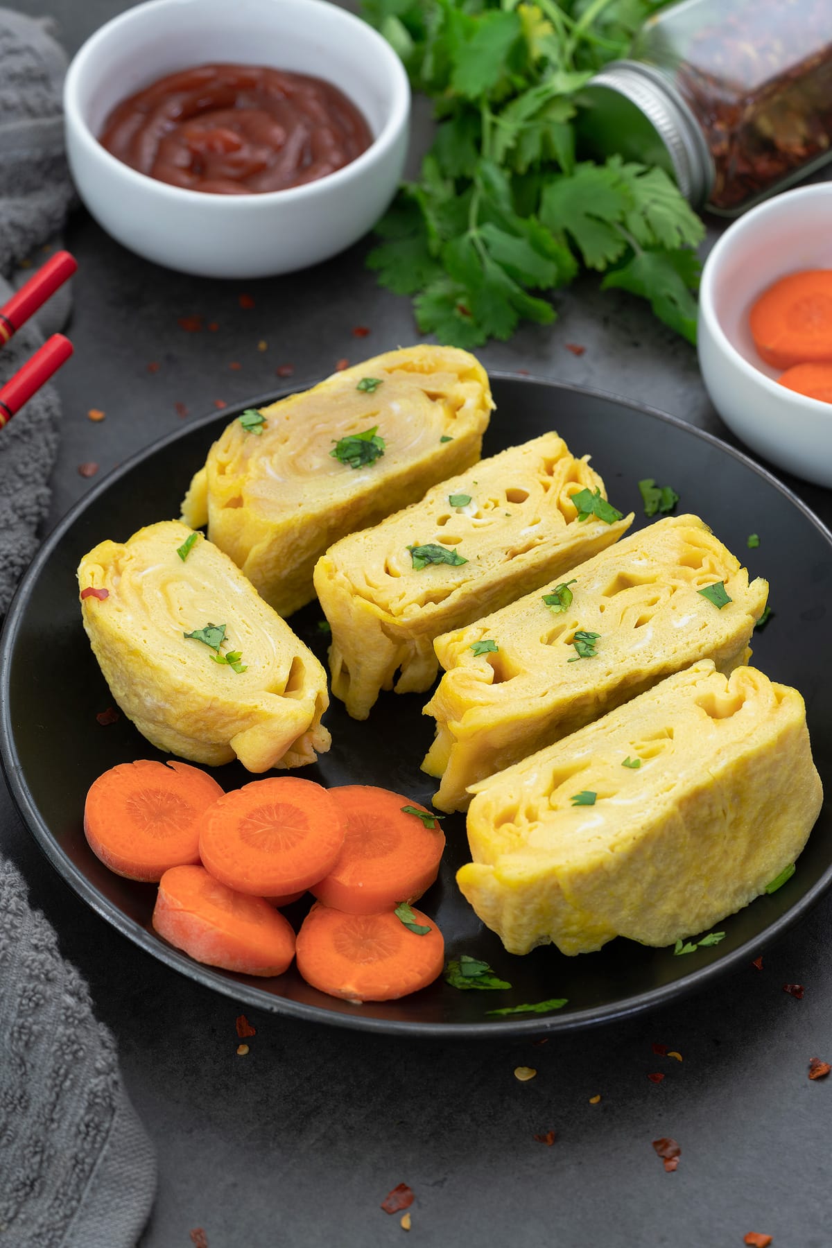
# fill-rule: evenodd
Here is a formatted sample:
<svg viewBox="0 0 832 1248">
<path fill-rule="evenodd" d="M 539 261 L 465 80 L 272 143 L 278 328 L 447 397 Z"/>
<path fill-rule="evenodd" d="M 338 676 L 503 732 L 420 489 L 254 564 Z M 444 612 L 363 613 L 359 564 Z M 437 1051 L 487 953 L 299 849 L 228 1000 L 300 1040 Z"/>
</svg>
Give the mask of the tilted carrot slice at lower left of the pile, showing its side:
<svg viewBox="0 0 832 1248">
<path fill-rule="evenodd" d="M 294 956 L 294 932 L 263 897 L 220 884 L 202 866 L 175 866 L 158 885 L 153 927 L 208 966 L 242 975 L 282 975 Z"/>
</svg>

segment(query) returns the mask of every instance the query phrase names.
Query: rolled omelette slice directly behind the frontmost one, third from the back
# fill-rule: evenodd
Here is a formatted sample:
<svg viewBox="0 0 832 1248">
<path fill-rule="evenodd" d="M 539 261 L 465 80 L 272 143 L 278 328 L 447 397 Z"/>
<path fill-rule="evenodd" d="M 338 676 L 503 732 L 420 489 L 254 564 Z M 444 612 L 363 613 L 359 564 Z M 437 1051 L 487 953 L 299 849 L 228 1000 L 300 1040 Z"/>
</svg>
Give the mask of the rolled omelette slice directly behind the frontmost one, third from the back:
<svg viewBox="0 0 832 1248">
<path fill-rule="evenodd" d="M 437 638 L 445 675 L 424 709 L 437 735 L 422 766 L 442 776 L 439 810 L 465 810 L 469 785 L 697 659 L 725 673 L 746 663 L 768 595 L 696 515 L 657 520 L 563 579 L 563 609 L 526 594 Z M 722 607 L 700 593 L 718 583 L 731 599 Z M 486 639 L 498 649 L 475 654 Z"/>
</svg>

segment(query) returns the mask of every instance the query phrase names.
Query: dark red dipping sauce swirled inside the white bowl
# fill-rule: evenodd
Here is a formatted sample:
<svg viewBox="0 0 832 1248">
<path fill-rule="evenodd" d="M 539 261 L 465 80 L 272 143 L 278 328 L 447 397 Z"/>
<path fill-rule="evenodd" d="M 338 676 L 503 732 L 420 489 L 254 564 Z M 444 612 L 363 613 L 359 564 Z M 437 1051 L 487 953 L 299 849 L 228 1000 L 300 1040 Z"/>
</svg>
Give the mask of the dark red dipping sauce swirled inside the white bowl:
<svg viewBox="0 0 832 1248">
<path fill-rule="evenodd" d="M 100 142 L 160 182 L 257 195 L 334 173 L 373 141 L 347 96 L 323 79 L 262 65 L 200 65 L 122 100 Z"/>
</svg>

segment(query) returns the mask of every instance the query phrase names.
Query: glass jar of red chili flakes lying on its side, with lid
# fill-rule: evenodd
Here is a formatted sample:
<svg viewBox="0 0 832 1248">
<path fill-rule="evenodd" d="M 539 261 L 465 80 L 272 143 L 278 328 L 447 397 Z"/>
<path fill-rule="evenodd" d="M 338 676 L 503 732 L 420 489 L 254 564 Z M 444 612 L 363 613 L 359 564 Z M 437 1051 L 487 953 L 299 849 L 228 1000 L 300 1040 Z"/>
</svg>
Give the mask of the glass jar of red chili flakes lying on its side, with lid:
<svg viewBox="0 0 832 1248">
<path fill-rule="evenodd" d="M 585 89 L 580 136 L 725 216 L 832 157 L 832 0 L 684 0 Z"/>
</svg>

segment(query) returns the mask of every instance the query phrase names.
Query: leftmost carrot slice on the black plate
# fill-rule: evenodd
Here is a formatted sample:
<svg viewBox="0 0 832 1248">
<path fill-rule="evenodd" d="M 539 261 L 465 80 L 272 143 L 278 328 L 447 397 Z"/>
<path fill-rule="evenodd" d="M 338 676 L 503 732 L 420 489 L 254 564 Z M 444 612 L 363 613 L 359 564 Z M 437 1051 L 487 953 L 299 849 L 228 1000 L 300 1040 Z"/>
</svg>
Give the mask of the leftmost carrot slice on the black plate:
<svg viewBox="0 0 832 1248">
<path fill-rule="evenodd" d="M 84 806 L 92 852 L 128 880 L 161 880 L 200 861 L 200 825 L 222 797 L 217 781 L 187 763 L 137 759 L 94 780 Z"/>
</svg>

